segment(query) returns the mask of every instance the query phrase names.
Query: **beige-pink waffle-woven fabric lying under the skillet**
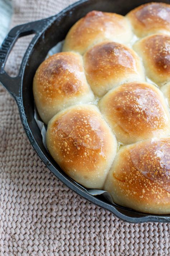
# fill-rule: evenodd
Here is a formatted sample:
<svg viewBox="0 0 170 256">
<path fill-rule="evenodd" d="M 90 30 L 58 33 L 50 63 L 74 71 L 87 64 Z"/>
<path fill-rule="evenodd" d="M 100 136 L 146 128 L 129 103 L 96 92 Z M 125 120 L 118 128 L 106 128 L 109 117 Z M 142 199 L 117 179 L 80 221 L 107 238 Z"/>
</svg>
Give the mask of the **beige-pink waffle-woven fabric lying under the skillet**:
<svg viewBox="0 0 170 256">
<path fill-rule="evenodd" d="M 14 0 L 11 27 L 72 0 Z M 28 37 L 6 67 L 15 75 Z M 30 145 L 13 98 L 0 86 L 0 256 L 170 255 L 170 224 L 123 222 L 63 185 Z"/>
</svg>

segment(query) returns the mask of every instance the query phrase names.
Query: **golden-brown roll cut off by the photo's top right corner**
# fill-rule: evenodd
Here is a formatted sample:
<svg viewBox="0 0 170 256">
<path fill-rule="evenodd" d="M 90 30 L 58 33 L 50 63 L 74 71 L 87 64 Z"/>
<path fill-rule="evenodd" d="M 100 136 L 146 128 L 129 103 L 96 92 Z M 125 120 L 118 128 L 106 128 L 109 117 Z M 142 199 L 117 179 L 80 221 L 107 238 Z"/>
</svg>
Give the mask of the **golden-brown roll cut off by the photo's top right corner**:
<svg viewBox="0 0 170 256">
<path fill-rule="evenodd" d="M 134 33 L 138 37 L 158 32 L 170 35 L 169 4 L 143 4 L 129 12 L 126 17 L 131 22 Z"/>
</svg>

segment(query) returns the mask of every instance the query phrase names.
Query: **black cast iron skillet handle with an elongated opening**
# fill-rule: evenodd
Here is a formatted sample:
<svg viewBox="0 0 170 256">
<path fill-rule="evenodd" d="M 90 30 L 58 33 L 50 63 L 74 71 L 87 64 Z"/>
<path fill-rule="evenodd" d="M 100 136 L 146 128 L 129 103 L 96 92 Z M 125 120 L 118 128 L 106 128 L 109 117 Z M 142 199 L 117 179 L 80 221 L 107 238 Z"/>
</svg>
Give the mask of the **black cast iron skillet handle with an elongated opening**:
<svg viewBox="0 0 170 256">
<path fill-rule="evenodd" d="M 24 70 L 23 67 L 27 61 L 29 53 L 31 52 L 33 45 L 38 39 L 38 37 L 42 34 L 42 32 L 49 25 L 49 23 L 53 22 L 54 19 L 55 19 L 55 16 L 42 19 L 39 21 L 22 24 L 12 28 L 0 47 L 0 83 L 3 84 L 3 86 L 11 94 L 11 96 L 14 97 L 16 101 L 19 98 L 21 93 L 21 81 L 22 81 L 22 75 Z M 32 41 L 30 42 L 24 54 L 22 63 L 20 65 L 19 74 L 16 77 L 11 77 L 4 71 L 5 63 L 9 56 L 9 53 L 11 52 L 16 40 L 19 37 L 27 36 L 31 34 L 35 34 L 35 36 L 33 37 Z"/>
</svg>

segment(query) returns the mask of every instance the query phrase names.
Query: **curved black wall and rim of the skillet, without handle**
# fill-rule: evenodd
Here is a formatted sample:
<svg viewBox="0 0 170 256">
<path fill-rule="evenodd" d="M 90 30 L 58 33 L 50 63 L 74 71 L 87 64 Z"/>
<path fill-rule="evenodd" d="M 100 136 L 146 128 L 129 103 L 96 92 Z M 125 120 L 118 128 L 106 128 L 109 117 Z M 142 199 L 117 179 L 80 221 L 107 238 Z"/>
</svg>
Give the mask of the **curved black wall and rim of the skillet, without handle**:
<svg viewBox="0 0 170 256">
<path fill-rule="evenodd" d="M 65 39 L 67 32 L 70 27 L 81 17 L 85 16 L 91 10 L 101 10 L 104 12 L 115 12 L 118 14 L 125 15 L 133 8 L 148 3 L 150 1 L 131 1 L 131 0 L 90 0 L 90 1 L 81 1 L 80 5 L 74 6 L 73 8 L 67 8 L 67 12 L 61 12 L 56 15 L 56 20 L 43 32 L 39 37 L 37 42 L 34 44 L 32 52 L 28 57 L 28 61 L 23 67 L 23 78 L 22 78 L 22 88 L 21 88 L 21 101 L 20 101 L 20 114 L 25 115 L 22 119 L 23 126 L 29 140 L 31 141 L 34 149 L 36 149 L 38 155 L 41 157 L 43 162 L 47 167 L 55 173 L 55 175 L 60 178 L 66 185 L 73 189 L 76 193 L 82 195 L 91 202 L 100 205 L 101 207 L 107 208 L 109 211 L 113 212 L 119 218 L 129 221 L 129 222 L 143 222 L 143 221 L 159 221 L 167 222 L 170 221 L 169 216 L 155 216 L 154 215 L 145 215 L 142 213 L 137 213 L 132 210 L 125 209 L 119 206 L 112 206 L 107 203 L 103 203 L 103 197 L 101 198 L 92 198 L 86 193 L 81 193 L 79 187 L 67 176 L 57 163 L 52 159 L 51 155 L 45 149 L 42 143 L 41 132 L 34 120 L 34 99 L 32 92 L 32 83 L 34 74 L 40 65 L 40 63 L 46 57 L 49 49 L 55 46 L 59 41 Z M 159 2 L 159 1 L 157 1 Z M 170 3 L 169 0 L 162 1 L 165 3 Z M 29 130 L 29 131 L 28 131 Z M 33 137 L 32 137 L 33 136 Z M 35 142 L 35 141 L 36 142 Z M 37 145 L 36 145 L 37 144 Z M 39 150 L 39 149 L 40 150 Z M 71 182 L 71 184 L 70 184 Z M 82 189 L 81 189 L 82 190 Z"/>
</svg>

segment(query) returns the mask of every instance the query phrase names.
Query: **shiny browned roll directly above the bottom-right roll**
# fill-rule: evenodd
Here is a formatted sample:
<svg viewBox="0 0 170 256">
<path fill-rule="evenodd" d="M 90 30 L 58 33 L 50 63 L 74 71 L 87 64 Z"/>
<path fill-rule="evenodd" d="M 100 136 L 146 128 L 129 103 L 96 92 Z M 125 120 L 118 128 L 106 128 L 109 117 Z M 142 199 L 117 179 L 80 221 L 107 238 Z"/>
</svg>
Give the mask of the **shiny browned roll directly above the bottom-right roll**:
<svg viewBox="0 0 170 256">
<path fill-rule="evenodd" d="M 170 135 L 170 114 L 155 85 L 126 83 L 109 91 L 99 102 L 117 140 L 131 144 Z"/>
</svg>

